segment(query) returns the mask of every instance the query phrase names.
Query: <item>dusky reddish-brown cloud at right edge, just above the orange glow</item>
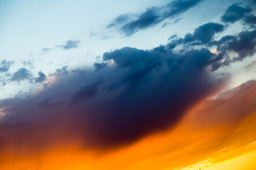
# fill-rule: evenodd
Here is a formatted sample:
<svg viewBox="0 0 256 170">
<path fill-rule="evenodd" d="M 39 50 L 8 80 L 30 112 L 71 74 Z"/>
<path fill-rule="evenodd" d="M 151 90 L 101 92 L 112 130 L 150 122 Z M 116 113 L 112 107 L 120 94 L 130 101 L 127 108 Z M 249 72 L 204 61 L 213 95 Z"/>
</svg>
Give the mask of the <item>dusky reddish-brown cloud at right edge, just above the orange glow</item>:
<svg viewBox="0 0 256 170">
<path fill-rule="evenodd" d="M 218 98 L 210 100 L 196 115 L 207 119 L 201 121 L 203 127 L 212 125 L 237 125 L 244 118 L 256 111 L 256 80 L 250 80 L 230 91 L 225 91 Z M 196 123 L 196 122 L 195 122 Z"/>
</svg>

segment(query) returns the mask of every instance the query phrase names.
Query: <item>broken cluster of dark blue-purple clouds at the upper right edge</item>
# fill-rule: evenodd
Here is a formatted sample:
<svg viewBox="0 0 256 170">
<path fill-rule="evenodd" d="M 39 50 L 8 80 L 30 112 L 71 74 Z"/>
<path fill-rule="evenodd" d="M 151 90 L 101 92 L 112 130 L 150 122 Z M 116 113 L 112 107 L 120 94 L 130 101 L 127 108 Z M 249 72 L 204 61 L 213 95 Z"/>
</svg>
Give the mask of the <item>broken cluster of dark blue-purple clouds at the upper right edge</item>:
<svg viewBox="0 0 256 170">
<path fill-rule="evenodd" d="M 238 10 L 235 10 L 237 9 Z M 232 16 L 232 17 L 231 17 Z M 224 19 L 225 18 L 225 19 Z M 194 32 L 187 33 L 184 38 L 178 38 L 177 35 L 171 35 L 169 40 L 169 47 L 173 49 L 198 47 L 217 47 L 215 58 L 212 60 L 211 71 L 227 66 L 233 62 L 239 62 L 245 57 L 252 57 L 255 54 L 255 18 L 252 14 L 252 8 L 242 7 L 240 4 L 233 4 L 228 7 L 222 16 L 222 21 L 226 23 L 233 23 L 235 21 L 242 21 L 245 30 L 235 35 L 225 35 L 220 40 L 215 40 L 215 34 L 221 33 L 225 30 L 225 26 L 220 23 L 206 23 L 199 26 Z M 226 26 L 228 27 L 228 26 Z M 230 53 L 233 52 L 233 55 Z"/>
</svg>

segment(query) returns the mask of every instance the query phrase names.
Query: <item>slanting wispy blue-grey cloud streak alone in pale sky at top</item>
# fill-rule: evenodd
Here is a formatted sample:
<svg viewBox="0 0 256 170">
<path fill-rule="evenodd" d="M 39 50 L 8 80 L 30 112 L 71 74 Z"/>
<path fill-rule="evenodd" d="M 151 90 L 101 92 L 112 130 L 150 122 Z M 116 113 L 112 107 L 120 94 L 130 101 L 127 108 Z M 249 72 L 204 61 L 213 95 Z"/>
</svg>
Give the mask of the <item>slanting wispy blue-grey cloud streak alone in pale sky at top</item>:
<svg viewBox="0 0 256 170">
<path fill-rule="evenodd" d="M 167 18 L 175 18 L 181 13 L 188 11 L 189 8 L 198 4 L 201 0 L 176 0 L 171 1 L 166 6 L 147 8 L 137 18 L 132 19 L 131 14 L 123 14 L 114 18 L 108 28 L 119 27 L 124 35 L 132 35 L 139 30 L 144 30 L 155 26 Z"/>
</svg>

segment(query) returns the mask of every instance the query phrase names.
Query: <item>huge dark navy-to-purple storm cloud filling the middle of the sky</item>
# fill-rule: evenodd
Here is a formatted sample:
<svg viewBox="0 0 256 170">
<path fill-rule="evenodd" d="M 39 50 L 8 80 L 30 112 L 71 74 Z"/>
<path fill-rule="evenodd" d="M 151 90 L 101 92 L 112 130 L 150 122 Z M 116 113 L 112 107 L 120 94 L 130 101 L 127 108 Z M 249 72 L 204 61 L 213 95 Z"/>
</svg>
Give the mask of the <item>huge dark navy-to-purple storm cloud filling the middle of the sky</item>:
<svg viewBox="0 0 256 170">
<path fill-rule="evenodd" d="M 168 45 L 106 52 L 97 71 L 52 74 L 55 83 L 41 93 L 0 101 L 13 109 L 1 120 L 0 141 L 26 149 L 79 139 L 105 148 L 166 130 L 218 88 L 207 69 L 215 57 L 206 48 L 173 52 Z"/>
</svg>

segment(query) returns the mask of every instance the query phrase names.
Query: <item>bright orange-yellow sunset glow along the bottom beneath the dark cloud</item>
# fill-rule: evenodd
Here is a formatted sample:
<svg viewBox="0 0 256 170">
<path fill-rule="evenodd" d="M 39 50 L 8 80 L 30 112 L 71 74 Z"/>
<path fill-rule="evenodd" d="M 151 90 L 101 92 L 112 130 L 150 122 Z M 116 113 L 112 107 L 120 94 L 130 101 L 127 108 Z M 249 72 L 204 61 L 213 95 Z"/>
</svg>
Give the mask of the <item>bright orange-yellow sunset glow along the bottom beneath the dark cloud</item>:
<svg viewBox="0 0 256 170">
<path fill-rule="evenodd" d="M 207 116 L 198 117 L 199 115 L 195 114 L 203 104 L 200 103 L 191 109 L 174 130 L 145 137 L 128 147 L 100 152 L 82 149 L 81 145 L 70 145 L 58 149 L 51 148 L 37 155 L 2 154 L 0 169 L 212 170 L 215 167 L 225 169 L 233 164 L 232 162 L 237 162 L 242 167 L 242 160 L 246 157 L 250 157 L 250 160 L 255 158 L 255 153 L 241 157 L 240 155 L 256 150 L 253 135 L 256 131 L 256 114 L 242 120 L 235 129 L 231 125 L 218 125 L 217 122 L 211 127 L 206 127 L 198 122 Z M 241 137 L 242 134 L 247 135 Z M 227 159 L 230 160 L 225 161 Z M 250 160 L 247 161 L 248 167 L 255 164 Z"/>
</svg>

